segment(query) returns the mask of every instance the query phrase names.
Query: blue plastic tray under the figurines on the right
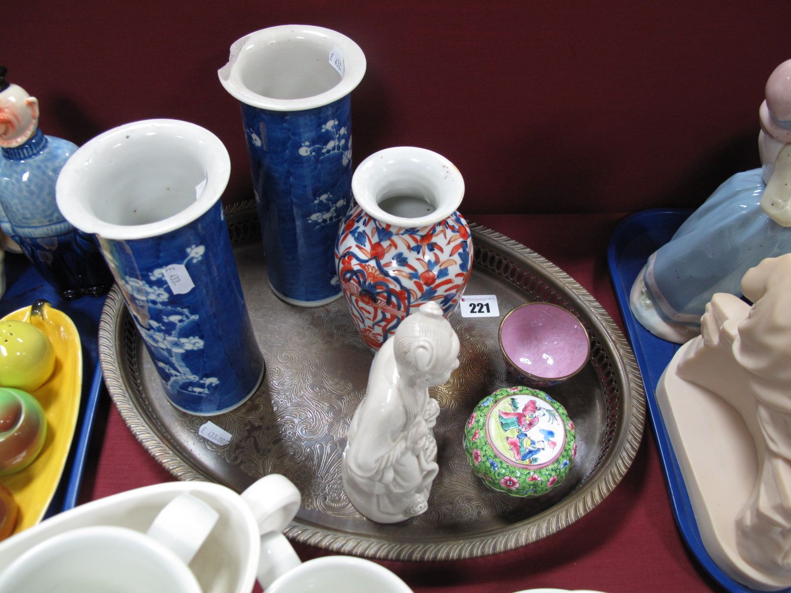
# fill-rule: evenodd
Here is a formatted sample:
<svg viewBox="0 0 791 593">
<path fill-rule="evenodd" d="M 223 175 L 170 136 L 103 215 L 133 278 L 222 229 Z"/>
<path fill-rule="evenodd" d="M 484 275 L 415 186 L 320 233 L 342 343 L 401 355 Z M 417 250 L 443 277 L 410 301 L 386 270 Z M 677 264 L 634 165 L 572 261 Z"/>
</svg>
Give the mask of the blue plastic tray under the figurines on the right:
<svg viewBox="0 0 791 593">
<path fill-rule="evenodd" d="M 694 557 L 725 589 L 740 592 L 754 591 L 732 580 L 706 553 L 687 495 L 687 487 L 684 485 L 670 436 L 664 427 L 662 414 L 657 405 L 657 383 L 679 346 L 657 338 L 645 330 L 634 319 L 629 308 L 629 293 L 634 278 L 637 278 L 649 255 L 667 243 L 691 213 L 692 210 L 645 210 L 626 218 L 612 234 L 607 248 L 607 264 L 610 267 L 623 323 L 626 325 L 626 334 L 629 336 L 645 383 L 645 400 L 648 403 L 653 434 L 657 439 L 664 478 L 668 482 L 673 515 L 676 517 L 679 531 Z M 791 588 L 785 591 L 789 592 Z"/>
</svg>

